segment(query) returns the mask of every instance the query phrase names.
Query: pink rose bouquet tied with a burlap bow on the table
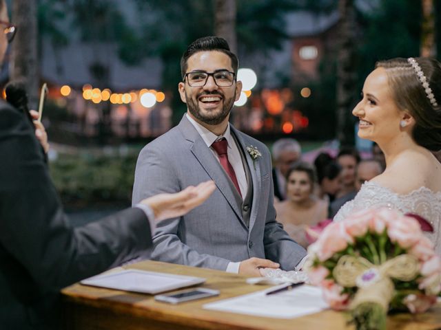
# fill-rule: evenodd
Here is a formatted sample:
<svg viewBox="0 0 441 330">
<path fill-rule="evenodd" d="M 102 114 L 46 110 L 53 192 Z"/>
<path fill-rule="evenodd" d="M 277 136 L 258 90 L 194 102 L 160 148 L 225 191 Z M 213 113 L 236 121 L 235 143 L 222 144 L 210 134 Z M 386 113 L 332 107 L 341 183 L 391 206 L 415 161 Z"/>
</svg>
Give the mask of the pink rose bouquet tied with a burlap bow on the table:
<svg viewBox="0 0 441 330">
<path fill-rule="evenodd" d="M 385 329 L 389 309 L 426 311 L 441 291 L 441 261 L 416 219 L 385 208 L 328 225 L 309 246 L 309 280 L 357 329 Z"/>
</svg>

